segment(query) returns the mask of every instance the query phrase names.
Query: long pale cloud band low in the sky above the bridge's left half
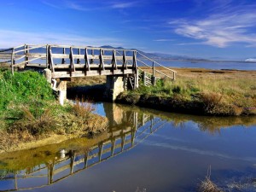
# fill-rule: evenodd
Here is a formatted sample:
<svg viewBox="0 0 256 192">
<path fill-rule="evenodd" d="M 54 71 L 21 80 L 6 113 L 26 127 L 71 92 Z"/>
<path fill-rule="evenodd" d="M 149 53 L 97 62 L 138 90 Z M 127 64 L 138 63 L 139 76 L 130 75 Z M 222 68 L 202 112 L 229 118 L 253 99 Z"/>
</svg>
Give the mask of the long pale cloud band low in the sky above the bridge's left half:
<svg viewBox="0 0 256 192">
<path fill-rule="evenodd" d="M 74 34 L 49 33 L 49 32 L 18 32 L 11 30 L 0 30 L 0 48 L 9 48 L 21 44 L 67 44 L 81 46 L 124 46 L 123 41 L 118 38 L 91 37 L 86 38 Z"/>
</svg>

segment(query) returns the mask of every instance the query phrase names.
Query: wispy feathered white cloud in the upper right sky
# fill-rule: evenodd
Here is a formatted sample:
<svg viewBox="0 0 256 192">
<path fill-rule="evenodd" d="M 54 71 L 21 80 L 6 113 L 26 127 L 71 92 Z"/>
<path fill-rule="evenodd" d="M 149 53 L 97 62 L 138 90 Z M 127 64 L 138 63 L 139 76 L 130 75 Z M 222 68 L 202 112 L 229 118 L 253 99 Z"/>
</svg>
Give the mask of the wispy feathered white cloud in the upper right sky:
<svg viewBox="0 0 256 192">
<path fill-rule="evenodd" d="M 209 44 L 220 48 L 233 43 L 244 43 L 248 46 L 256 45 L 256 7 L 242 7 L 231 9 L 230 12 L 219 10 L 205 19 L 172 20 L 175 32 L 188 38 L 201 40 L 201 44 Z M 253 31 L 253 30 L 254 31 Z"/>
</svg>

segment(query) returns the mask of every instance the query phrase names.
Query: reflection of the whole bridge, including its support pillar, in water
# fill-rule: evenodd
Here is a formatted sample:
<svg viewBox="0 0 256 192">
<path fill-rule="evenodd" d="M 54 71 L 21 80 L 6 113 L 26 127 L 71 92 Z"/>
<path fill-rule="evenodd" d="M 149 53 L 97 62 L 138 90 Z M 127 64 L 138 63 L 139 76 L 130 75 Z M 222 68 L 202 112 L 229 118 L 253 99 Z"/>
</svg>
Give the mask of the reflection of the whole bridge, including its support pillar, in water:
<svg viewBox="0 0 256 192">
<path fill-rule="evenodd" d="M 112 104 L 104 107 L 109 119 L 108 139 L 85 150 L 84 153 L 67 151 L 64 148 L 56 155 L 55 160 L 7 174 L 3 180 L 11 180 L 12 187 L 4 191 L 43 188 L 57 183 L 136 147 L 166 123 L 154 118 L 152 114 L 124 111 Z"/>
</svg>

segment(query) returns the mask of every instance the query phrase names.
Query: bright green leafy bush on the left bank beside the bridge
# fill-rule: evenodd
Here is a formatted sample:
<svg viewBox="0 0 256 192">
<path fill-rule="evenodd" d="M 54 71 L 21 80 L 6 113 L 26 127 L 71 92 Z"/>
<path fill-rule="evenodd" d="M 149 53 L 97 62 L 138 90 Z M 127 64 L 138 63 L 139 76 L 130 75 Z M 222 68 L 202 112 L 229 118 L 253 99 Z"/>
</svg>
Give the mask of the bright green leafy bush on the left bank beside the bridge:
<svg viewBox="0 0 256 192">
<path fill-rule="evenodd" d="M 9 70 L 0 69 L 0 111 L 10 104 L 32 101 L 54 100 L 52 90 L 43 75 L 26 71 L 12 75 Z"/>
</svg>

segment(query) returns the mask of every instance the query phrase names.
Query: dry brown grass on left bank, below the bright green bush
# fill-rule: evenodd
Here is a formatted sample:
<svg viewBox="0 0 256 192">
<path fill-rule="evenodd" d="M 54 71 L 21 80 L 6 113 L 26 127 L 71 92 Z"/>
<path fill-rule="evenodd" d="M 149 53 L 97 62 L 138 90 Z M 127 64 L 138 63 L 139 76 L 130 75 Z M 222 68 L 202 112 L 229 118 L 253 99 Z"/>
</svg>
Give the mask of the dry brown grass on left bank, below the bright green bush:
<svg viewBox="0 0 256 192">
<path fill-rule="evenodd" d="M 0 129 L 0 151 L 20 143 L 38 141 L 52 135 L 93 137 L 106 131 L 108 119 L 93 114 L 92 105 L 77 101 L 73 106 L 42 109 L 35 115 L 28 108 L 20 108 L 22 115 L 6 129 Z"/>
</svg>

